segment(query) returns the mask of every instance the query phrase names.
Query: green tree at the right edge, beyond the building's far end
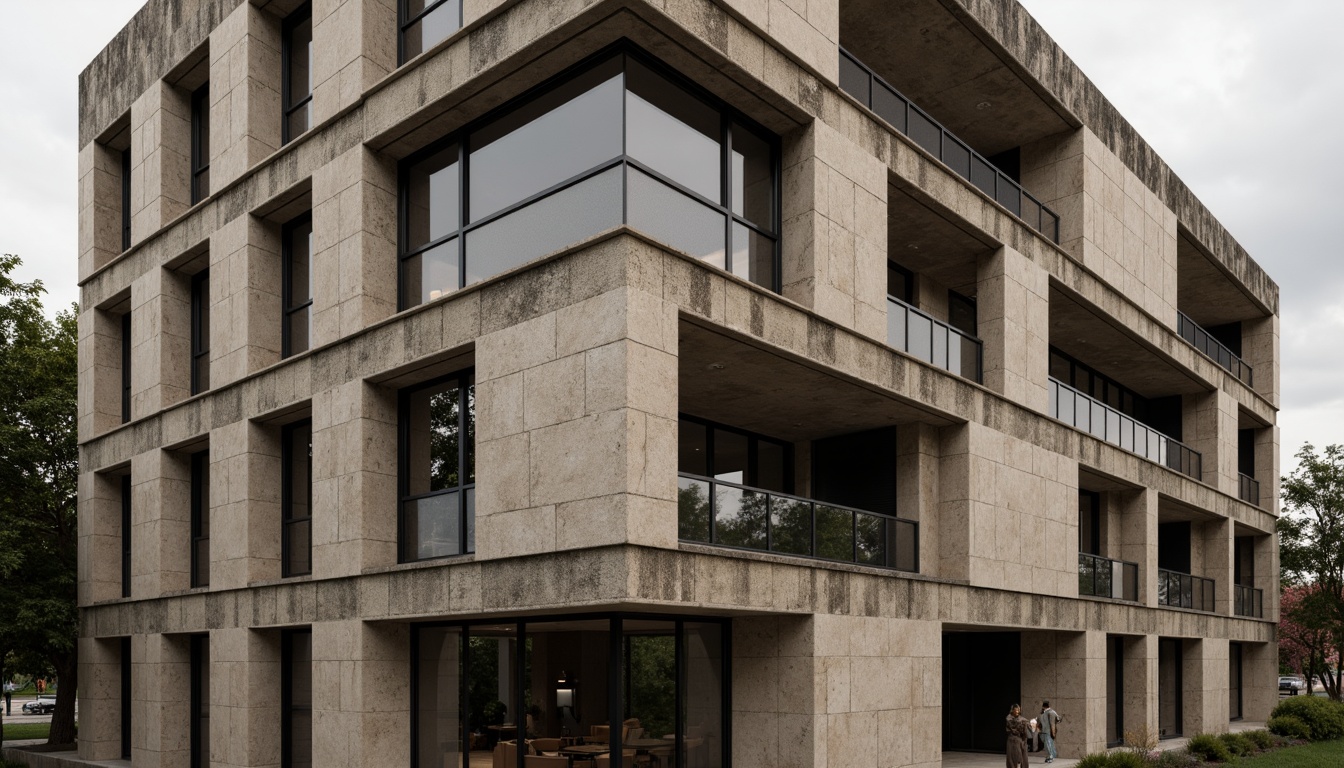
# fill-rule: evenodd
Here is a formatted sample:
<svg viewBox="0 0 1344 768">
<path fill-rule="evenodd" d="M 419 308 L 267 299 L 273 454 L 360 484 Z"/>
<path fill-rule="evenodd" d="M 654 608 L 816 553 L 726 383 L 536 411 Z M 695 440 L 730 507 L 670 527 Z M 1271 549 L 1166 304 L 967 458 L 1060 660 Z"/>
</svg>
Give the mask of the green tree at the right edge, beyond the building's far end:
<svg viewBox="0 0 1344 768">
<path fill-rule="evenodd" d="M 1297 452 L 1297 468 L 1284 477 L 1284 515 L 1278 521 L 1282 586 L 1310 586 L 1302 600 L 1286 601 L 1284 619 L 1324 632 L 1325 659 L 1344 650 L 1344 447 Z M 1322 664 L 1322 685 L 1340 698 L 1337 667 Z"/>
</svg>

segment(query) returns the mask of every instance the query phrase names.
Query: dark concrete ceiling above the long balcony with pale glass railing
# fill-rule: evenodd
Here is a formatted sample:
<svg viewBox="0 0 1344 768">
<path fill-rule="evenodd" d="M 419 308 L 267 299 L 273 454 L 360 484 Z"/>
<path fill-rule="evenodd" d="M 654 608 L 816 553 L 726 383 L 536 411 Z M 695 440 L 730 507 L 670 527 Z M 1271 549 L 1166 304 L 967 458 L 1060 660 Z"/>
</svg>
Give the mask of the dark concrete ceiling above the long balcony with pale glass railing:
<svg viewBox="0 0 1344 768">
<path fill-rule="evenodd" d="M 1207 391 L 1129 330 L 1111 325 L 1055 285 L 1050 286 L 1050 344 L 1144 397 Z"/>
</svg>

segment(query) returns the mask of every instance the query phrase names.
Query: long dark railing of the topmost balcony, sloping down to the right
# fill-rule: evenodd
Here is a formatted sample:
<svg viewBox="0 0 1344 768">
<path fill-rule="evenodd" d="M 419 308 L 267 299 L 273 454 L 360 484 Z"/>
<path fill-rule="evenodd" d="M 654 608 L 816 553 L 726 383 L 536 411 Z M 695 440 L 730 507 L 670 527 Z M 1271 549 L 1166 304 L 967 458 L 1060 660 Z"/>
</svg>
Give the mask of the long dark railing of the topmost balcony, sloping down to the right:
<svg viewBox="0 0 1344 768">
<path fill-rule="evenodd" d="M 1021 188 L 867 65 L 840 48 L 840 87 L 1031 227 L 1059 242 L 1059 214 Z"/>
</svg>

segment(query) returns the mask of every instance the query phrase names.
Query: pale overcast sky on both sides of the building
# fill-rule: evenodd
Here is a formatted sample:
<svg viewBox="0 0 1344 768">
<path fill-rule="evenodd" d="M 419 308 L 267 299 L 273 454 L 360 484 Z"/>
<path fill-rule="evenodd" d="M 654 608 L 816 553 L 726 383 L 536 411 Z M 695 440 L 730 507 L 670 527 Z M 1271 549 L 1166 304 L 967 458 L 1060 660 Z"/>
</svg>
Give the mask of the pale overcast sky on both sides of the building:
<svg viewBox="0 0 1344 768">
<path fill-rule="evenodd" d="M 0 0 L 0 252 L 52 303 L 78 299 L 77 78 L 141 4 L 70 0 L 52 24 Z M 1344 3 L 1023 4 L 1278 282 L 1284 471 L 1344 443 Z"/>
</svg>

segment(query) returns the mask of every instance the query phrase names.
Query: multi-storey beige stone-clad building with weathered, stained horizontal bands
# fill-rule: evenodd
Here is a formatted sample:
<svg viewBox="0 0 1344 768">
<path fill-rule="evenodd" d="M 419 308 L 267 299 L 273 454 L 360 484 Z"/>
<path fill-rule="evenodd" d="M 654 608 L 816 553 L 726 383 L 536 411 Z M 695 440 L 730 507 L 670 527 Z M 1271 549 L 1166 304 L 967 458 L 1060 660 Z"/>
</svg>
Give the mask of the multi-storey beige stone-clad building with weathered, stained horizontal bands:
<svg viewBox="0 0 1344 768">
<path fill-rule="evenodd" d="M 79 89 L 82 760 L 1273 706 L 1278 289 L 1013 0 L 151 0 Z"/>
</svg>

